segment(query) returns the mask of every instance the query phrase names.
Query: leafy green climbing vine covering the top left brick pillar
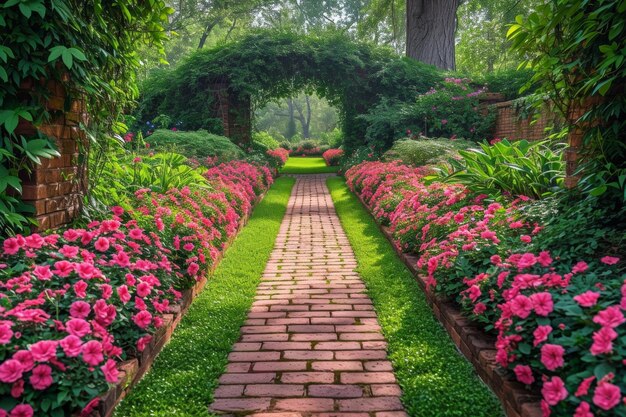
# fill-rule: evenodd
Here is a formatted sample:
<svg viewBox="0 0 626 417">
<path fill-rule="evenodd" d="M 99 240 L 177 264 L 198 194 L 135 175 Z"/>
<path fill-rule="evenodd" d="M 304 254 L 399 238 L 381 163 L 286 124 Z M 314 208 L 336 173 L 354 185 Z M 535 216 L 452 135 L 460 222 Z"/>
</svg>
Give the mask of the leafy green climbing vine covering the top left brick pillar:
<svg viewBox="0 0 626 417">
<path fill-rule="evenodd" d="M 46 109 L 50 92 L 45 83 L 34 80 L 62 83 L 66 107 L 81 96 L 92 122 L 119 130 L 121 110 L 137 95 L 134 71 L 140 63 L 135 51 L 147 42 L 161 47 L 161 24 L 170 12 L 162 0 L 5 1 L 0 8 L 0 171 L 15 178 L 17 171 L 40 163 L 39 158 L 55 155 L 48 138 L 24 137 L 16 130 L 19 122 L 39 127 L 58 116 Z M 1 234 L 26 227 L 20 186 L 9 185 L 17 196 L 0 191 Z"/>
</svg>

